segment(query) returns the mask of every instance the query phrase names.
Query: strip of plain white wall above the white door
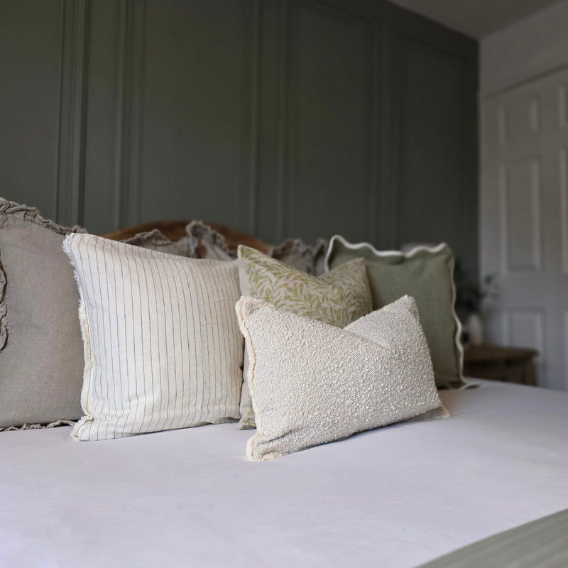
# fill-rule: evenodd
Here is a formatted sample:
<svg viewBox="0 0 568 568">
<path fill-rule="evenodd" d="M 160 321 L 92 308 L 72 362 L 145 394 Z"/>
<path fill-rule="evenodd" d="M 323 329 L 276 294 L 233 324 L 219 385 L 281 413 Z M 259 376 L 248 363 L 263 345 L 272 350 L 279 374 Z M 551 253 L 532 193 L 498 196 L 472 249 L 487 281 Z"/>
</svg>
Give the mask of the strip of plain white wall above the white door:
<svg viewBox="0 0 568 568">
<path fill-rule="evenodd" d="M 568 66 L 568 0 L 482 38 L 479 65 L 481 94 Z"/>
</svg>

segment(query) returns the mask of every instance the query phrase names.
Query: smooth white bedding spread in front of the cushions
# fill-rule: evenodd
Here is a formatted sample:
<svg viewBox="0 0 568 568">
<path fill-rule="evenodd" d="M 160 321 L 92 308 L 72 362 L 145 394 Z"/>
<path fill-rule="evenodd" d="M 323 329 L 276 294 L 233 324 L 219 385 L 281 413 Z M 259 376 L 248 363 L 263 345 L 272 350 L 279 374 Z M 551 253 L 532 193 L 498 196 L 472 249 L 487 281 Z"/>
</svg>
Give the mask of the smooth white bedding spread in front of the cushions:
<svg viewBox="0 0 568 568">
<path fill-rule="evenodd" d="M 447 420 L 245 458 L 209 425 L 0 433 L 0 566 L 415 567 L 568 508 L 568 393 L 480 381 Z"/>
</svg>

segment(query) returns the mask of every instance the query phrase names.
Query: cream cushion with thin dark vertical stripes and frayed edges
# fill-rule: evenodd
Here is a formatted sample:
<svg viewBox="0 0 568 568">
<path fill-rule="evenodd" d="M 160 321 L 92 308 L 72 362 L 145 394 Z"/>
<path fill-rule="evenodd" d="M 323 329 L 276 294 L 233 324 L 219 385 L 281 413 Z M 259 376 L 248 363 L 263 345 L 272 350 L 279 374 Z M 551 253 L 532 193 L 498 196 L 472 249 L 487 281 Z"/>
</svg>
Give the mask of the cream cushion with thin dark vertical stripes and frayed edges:
<svg viewBox="0 0 568 568">
<path fill-rule="evenodd" d="M 108 439 L 239 418 L 236 261 L 181 258 L 71 234 L 84 342 L 72 436 Z"/>
</svg>

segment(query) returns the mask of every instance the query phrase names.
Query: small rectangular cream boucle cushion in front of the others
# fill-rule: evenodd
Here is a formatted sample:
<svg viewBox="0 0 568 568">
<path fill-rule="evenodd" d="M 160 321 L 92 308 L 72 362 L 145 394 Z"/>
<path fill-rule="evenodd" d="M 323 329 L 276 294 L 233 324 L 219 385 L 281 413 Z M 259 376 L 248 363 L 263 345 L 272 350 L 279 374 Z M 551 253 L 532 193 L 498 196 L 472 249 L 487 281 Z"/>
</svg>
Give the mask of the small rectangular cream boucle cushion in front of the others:
<svg viewBox="0 0 568 568">
<path fill-rule="evenodd" d="M 252 297 L 242 297 L 236 312 L 250 356 L 257 431 L 246 455 L 253 461 L 424 413 L 445 415 L 412 297 L 344 329 Z"/>
</svg>

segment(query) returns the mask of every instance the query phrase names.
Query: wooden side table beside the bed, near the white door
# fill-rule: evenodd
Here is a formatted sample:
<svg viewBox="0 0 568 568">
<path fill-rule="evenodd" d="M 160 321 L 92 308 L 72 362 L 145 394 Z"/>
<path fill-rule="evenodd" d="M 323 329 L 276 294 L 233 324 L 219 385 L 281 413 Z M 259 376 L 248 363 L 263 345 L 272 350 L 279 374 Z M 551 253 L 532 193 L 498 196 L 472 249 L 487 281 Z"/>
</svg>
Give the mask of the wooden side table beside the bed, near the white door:
<svg viewBox="0 0 568 568">
<path fill-rule="evenodd" d="M 536 386 L 536 349 L 471 345 L 464 349 L 464 376 Z"/>
</svg>

